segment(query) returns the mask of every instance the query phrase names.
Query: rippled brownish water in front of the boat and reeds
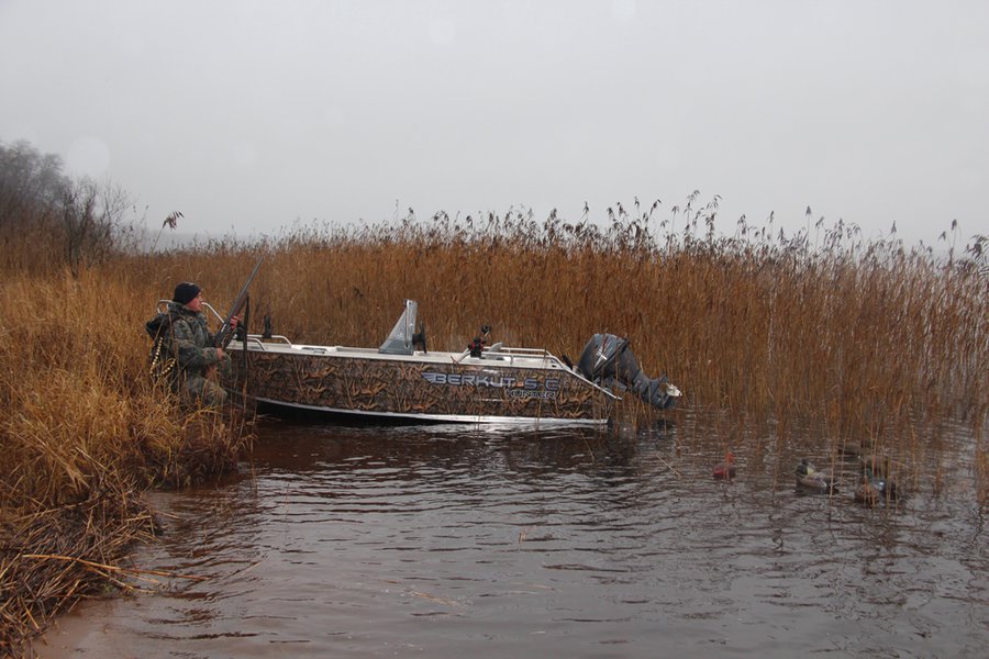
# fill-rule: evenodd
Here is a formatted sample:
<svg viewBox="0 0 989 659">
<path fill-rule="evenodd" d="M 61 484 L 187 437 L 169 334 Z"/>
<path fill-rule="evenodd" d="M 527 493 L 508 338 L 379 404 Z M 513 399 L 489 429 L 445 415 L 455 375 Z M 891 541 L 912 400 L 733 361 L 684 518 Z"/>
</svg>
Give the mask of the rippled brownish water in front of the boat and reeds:
<svg viewBox="0 0 989 659">
<path fill-rule="evenodd" d="M 794 489 L 800 457 L 829 462 L 813 433 L 785 446 L 735 437 L 736 478 L 713 480 L 726 438 L 712 427 L 266 423 L 235 478 L 154 495 L 160 543 L 133 560 L 174 577 L 81 606 L 36 649 L 985 656 L 989 554 L 970 437 L 925 458 L 940 484 L 920 466 L 905 501 L 866 509 L 851 485 L 834 498 Z"/>
</svg>

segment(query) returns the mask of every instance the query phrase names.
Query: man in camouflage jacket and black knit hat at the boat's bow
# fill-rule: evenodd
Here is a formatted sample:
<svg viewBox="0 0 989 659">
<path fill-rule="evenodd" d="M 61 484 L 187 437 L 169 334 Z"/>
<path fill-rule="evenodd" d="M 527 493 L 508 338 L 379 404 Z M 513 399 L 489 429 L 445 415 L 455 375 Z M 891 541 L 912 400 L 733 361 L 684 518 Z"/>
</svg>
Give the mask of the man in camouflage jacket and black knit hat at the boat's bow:
<svg viewBox="0 0 989 659">
<path fill-rule="evenodd" d="M 226 402 L 227 394 L 211 378 L 216 367 L 229 365 L 230 357 L 220 347 L 223 344 L 218 337 L 210 334 L 202 305 L 202 289 L 182 282 L 175 287 L 165 311 L 146 323 L 145 328 L 154 342 L 151 375 L 167 382 L 185 402 L 220 407 Z M 240 319 L 231 315 L 224 326 L 233 333 Z"/>
</svg>

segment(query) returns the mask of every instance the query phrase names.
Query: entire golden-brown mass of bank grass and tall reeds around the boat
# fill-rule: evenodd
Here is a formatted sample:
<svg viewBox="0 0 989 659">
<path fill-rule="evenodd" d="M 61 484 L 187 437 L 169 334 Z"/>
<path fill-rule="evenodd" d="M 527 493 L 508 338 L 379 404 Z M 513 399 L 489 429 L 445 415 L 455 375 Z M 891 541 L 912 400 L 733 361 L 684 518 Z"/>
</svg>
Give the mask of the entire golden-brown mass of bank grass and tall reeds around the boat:
<svg viewBox="0 0 989 659">
<path fill-rule="evenodd" d="M 207 478 L 236 459 L 243 434 L 207 413 L 180 414 L 148 381 L 143 324 L 182 280 L 223 311 L 262 255 L 252 332 L 268 315 L 292 340 L 375 346 L 405 298 L 420 301 L 435 349 L 464 349 L 487 324 L 493 340 L 576 360 L 593 333 L 611 332 L 632 340 L 646 372 L 685 390 L 684 407 L 718 411 L 738 434 L 771 424 L 778 443 L 791 442 L 799 418 L 829 428 L 834 449 L 855 444 L 916 465 L 949 422 L 966 423 L 977 496 L 989 500 L 986 238 L 935 254 L 865 242 L 841 223 L 787 238 L 771 223 L 743 222 L 719 237 L 716 203 L 694 202 L 664 221 L 620 210 L 603 224 L 555 213 L 537 222 L 512 209 L 300 227 L 259 242 L 119 252 L 75 276 L 55 265 L 40 272 L 41 257 L 9 258 L 0 283 L 0 638 L 16 643 L 36 628 L 36 617 L 81 592 L 76 579 L 116 578 L 100 566 L 152 528 L 127 507 L 134 492 Z M 115 503 L 102 503 L 105 492 L 118 493 Z M 114 525 L 107 511 L 130 525 Z M 74 544 L 66 520 L 122 539 Z M 52 558 L 62 555 L 87 562 Z M 51 578 L 69 588 L 34 602 L 49 591 L 26 587 L 34 582 L 23 570 L 54 574 L 69 563 L 75 577 Z"/>
</svg>

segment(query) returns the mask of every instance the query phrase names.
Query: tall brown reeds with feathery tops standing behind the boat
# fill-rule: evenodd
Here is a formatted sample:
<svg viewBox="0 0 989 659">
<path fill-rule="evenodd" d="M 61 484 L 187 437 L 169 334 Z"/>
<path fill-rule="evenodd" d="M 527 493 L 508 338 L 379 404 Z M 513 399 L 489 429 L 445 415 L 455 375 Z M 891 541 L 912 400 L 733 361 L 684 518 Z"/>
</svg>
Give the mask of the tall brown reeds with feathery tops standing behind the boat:
<svg viewBox="0 0 989 659">
<path fill-rule="evenodd" d="M 780 444 L 800 418 L 827 428 L 835 450 L 915 463 L 960 421 L 976 437 L 985 500 L 986 236 L 956 252 L 953 227 L 935 252 L 894 235 L 865 241 L 841 222 L 787 237 L 770 221 L 725 237 L 713 232 L 716 199 L 694 203 L 664 221 L 612 212 L 603 225 L 513 209 L 312 226 L 159 255 L 152 269 L 171 270 L 163 292 L 188 273 L 229 300 L 266 254 L 252 330 L 269 315 L 300 342 L 378 345 L 404 298 L 420 301 L 434 348 L 463 349 L 488 324 L 492 340 L 576 358 L 593 333 L 621 334 L 647 372 L 685 389 L 685 406 L 734 426 L 771 423 Z"/>
</svg>

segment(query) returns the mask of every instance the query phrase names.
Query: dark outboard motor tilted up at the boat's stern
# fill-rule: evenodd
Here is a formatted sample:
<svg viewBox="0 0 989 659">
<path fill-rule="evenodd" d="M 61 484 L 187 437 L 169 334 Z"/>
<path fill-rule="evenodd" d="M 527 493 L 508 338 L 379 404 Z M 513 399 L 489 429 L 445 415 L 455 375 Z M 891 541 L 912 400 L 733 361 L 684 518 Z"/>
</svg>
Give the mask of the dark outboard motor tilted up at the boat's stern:
<svg viewBox="0 0 989 659">
<path fill-rule="evenodd" d="M 680 390 L 666 376 L 651 379 L 642 372 L 638 359 L 629 348 L 629 339 L 614 334 L 594 334 L 587 342 L 577 372 L 596 384 L 631 389 L 659 410 L 673 407 L 680 398 Z"/>
</svg>

